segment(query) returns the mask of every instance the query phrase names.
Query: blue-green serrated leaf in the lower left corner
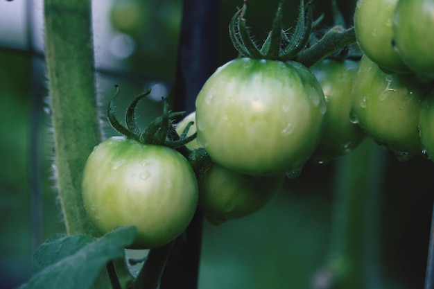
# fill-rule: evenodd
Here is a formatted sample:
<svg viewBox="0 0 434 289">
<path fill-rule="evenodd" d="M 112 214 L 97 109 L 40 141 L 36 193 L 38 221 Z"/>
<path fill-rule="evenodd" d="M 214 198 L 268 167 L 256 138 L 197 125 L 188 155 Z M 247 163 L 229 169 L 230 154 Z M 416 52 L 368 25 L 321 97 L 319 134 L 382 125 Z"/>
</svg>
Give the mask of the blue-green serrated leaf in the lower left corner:
<svg viewBox="0 0 434 289">
<path fill-rule="evenodd" d="M 101 238 L 55 235 L 37 250 L 36 274 L 19 289 L 90 288 L 108 261 L 124 256 L 136 234 L 135 227 L 119 227 Z"/>
</svg>

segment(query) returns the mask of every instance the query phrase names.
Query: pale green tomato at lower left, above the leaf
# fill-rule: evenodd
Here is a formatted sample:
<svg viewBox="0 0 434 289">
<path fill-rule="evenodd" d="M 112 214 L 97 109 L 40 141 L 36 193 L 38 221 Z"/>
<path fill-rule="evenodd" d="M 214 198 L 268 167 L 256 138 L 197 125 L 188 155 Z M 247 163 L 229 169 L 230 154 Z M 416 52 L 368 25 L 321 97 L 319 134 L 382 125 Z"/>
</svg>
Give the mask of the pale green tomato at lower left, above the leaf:
<svg viewBox="0 0 434 289">
<path fill-rule="evenodd" d="M 189 225 L 198 203 L 198 184 L 179 152 L 112 137 L 89 155 L 82 195 L 101 234 L 135 225 L 132 247 L 153 248 L 174 240 Z"/>
</svg>

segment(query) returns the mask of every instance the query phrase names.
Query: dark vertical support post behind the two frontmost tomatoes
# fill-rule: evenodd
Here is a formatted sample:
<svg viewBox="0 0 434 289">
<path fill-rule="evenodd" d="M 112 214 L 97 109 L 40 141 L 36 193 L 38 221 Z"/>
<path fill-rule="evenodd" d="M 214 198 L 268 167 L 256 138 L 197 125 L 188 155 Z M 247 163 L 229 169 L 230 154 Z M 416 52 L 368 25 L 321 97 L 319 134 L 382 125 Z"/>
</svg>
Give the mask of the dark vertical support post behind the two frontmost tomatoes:
<svg viewBox="0 0 434 289">
<path fill-rule="evenodd" d="M 178 48 L 174 111 L 193 112 L 198 92 L 216 69 L 220 0 L 184 0 Z M 160 289 L 198 288 L 202 214 L 175 243 Z"/>
</svg>

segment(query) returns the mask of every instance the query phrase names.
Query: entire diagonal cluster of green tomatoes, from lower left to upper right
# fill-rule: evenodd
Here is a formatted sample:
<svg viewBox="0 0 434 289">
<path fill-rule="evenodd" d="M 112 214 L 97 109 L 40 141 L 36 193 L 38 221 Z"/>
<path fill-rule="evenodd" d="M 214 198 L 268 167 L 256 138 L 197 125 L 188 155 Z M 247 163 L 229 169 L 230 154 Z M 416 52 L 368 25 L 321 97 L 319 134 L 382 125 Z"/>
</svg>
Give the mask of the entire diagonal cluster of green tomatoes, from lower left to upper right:
<svg viewBox="0 0 434 289">
<path fill-rule="evenodd" d="M 176 128 L 180 114 L 165 108 L 140 132 L 134 108 L 143 95 L 128 108 L 126 126 L 109 107 L 110 123 L 127 138 L 97 146 L 83 177 L 83 200 L 101 233 L 136 225 L 134 245 L 159 247 L 181 234 L 197 206 L 214 224 L 247 216 L 276 195 L 284 175 L 341 157 L 366 136 L 401 160 L 434 157 L 433 0 L 358 0 L 363 56 L 309 68 L 295 60 L 297 44 L 315 48 L 307 44 L 310 8 L 301 6 L 291 39 L 278 10 L 262 49 L 250 40 L 245 8 L 229 28 L 242 57 L 216 69 L 196 112 Z"/>
</svg>

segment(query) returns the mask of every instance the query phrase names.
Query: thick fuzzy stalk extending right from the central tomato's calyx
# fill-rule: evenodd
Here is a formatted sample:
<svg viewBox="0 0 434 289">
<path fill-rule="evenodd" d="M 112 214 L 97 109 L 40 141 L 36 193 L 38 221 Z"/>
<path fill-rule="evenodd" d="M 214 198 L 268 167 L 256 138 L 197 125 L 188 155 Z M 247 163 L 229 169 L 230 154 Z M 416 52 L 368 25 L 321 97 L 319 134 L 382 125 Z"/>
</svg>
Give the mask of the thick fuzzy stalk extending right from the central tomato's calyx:
<svg viewBox="0 0 434 289">
<path fill-rule="evenodd" d="M 355 43 L 356 35 L 353 27 L 345 30 L 342 26 L 335 26 L 327 31 L 317 43 L 301 51 L 295 60 L 306 67 L 311 67 L 327 56 Z"/>
</svg>

